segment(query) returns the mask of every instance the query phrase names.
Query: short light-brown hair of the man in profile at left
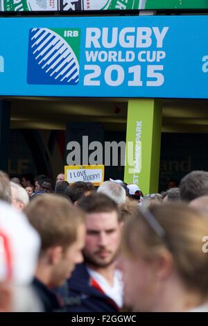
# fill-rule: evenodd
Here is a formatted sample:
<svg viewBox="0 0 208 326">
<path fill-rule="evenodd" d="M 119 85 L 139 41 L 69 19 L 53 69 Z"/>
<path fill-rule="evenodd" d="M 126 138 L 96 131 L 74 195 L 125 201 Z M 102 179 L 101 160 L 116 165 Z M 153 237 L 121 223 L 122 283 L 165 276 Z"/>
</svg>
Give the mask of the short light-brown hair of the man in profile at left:
<svg viewBox="0 0 208 326">
<path fill-rule="evenodd" d="M 54 246 L 67 248 L 76 241 L 83 213 L 66 198 L 44 195 L 34 198 L 26 207 L 28 220 L 40 234 L 42 252 Z"/>
</svg>

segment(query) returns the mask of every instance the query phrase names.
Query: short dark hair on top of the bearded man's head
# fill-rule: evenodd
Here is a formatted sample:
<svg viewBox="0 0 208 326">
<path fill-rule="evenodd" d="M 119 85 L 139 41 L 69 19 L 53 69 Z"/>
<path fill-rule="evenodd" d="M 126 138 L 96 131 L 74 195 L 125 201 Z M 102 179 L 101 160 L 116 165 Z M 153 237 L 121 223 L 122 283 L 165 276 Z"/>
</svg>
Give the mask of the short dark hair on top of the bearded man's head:
<svg viewBox="0 0 208 326">
<path fill-rule="evenodd" d="M 85 213 L 104 213 L 104 212 L 117 212 L 119 216 L 119 210 L 114 200 L 110 199 L 104 194 L 90 194 L 87 197 L 83 197 L 78 200 L 78 207 Z"/>
</svg>

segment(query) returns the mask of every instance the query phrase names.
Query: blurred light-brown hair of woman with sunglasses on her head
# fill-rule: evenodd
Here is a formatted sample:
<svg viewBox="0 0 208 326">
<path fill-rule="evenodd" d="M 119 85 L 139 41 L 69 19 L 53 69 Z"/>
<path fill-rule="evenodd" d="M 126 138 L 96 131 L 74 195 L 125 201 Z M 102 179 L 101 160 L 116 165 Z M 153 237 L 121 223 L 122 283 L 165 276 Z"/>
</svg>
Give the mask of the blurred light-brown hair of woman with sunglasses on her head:
<svg viewBox="0 0 208 326">
<path fill-rule="evenodd" d="M 157 259 L 163 250 L 173 255 L 174 268 L 189 289 L 208 294 L 208 216 L 184 204 L 164 204 L 137 209 L 125 224 L 122 248 L 130 257 Z"/>
</svg>

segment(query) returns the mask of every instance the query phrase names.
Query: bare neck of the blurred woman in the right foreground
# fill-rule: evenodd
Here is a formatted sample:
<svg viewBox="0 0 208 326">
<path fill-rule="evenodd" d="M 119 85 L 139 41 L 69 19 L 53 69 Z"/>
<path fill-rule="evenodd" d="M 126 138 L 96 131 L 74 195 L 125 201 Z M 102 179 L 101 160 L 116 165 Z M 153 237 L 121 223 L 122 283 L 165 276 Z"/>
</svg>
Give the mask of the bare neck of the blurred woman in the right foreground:
<svg viewBox="0 0 208 326">
<path fill-rule="evenodd" d="M 206 299 L 202 298 L 200 293 L 185 288 L 182 282 L 173 276 L 170 280 L 165 281 L 161 291 L 157 293 L 151 311 L 185 312 L 200 307 L 205 303 Z"/>
</svg>

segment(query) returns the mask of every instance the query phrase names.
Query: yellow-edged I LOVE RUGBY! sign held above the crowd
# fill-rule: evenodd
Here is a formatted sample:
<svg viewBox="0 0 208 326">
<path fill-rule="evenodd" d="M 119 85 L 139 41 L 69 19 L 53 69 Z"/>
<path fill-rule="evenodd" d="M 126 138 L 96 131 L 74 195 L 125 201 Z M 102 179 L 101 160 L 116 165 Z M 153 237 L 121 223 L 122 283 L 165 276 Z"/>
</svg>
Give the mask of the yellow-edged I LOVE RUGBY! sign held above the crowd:
<svg viewBox="0 0 208 326">
<path fill-rule="evenodd" d="M 104 165 L 67 165 L 64 166 L 64 174 L 69 184 L 84 181 L 99 186 L 104 180 Z"/>
</svg>

